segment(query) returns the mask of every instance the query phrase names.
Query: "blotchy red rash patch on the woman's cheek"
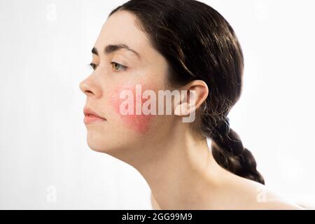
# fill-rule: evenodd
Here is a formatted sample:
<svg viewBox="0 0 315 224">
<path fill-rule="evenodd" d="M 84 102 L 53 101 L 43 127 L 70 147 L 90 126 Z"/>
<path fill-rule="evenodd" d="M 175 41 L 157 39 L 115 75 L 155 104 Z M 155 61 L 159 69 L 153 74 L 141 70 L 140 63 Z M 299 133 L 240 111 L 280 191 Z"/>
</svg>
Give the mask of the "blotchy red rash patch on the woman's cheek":
<svg viewBox="0 0 315 224">
<path fill-rule="evenodd" d="M 122 92 L 123 90 L 130 90 L 133 94 L 134 110 L 132 114 L 125 115 L 120 113 L 120 105 L 127 99 L 127 97 L 120 99 L 120 92 Z M 137 95 L 136 85 L 132 87 L 116 87 L 111 96 L 111 105 L 113 106 L 114 111 L 120 116 L 125 126 L 139 134 L 144 134 L 148 131 L 148 129 L 150 128 L 151 120 L 154 116 L 151 114 L 145 115 L 142 111 L 142 105 L 144 104 L 144 102 L 150 99 L 150 97 L 148 97 L 148 99 L 142 98 L 142 94 L 145 90 L 146 89 L 144 89 L 144 85 L 141 85 L 141 94 Z M 136 99 L 136 97 L 138 99 Z M 141 114 L 136 113 L 137 106 Z"/>
</svg>

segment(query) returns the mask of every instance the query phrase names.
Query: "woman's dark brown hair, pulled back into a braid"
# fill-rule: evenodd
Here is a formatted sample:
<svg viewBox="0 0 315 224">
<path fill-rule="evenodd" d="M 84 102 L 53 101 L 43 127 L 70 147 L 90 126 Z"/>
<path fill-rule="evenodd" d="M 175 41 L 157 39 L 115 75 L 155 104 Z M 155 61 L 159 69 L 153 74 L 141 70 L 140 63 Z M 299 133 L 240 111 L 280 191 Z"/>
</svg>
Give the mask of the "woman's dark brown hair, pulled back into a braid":
<svg viewBox="0 0 315 224">
<path fill-rule="evenodd" d="M 114 9 L 136 15 L 153 48 L 167 59 L 168 80 L 204 80 L 209 96 L 197 111 L 198 130 L 210 137 L 219 165 L 265 184 L 256 162 L 230 128 L 228 113 L 241 95 L 244 58 L 235 31 L 214 8 L 194 0 L 131 0 Z"/>
</svg>

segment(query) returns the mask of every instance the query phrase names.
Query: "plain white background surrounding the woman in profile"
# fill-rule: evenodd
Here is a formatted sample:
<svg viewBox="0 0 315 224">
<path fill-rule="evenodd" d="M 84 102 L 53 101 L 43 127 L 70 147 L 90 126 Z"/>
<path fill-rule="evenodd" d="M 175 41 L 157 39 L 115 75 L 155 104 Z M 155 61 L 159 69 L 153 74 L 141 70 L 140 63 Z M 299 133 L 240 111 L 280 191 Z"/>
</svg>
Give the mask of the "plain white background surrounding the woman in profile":
<svg viewBox="0 0 315 224">
<path fill-rule="evenodd" d="M 83 124 L 78 85 L 107 15 L 123 2 L 0 1 L 0 209 L 151 209 L 146 181 L 90 150 Z M 269 188 L 314 205 L 314 1 L 204 2 L 244 50 L 232 128 Z"/>
</svg>

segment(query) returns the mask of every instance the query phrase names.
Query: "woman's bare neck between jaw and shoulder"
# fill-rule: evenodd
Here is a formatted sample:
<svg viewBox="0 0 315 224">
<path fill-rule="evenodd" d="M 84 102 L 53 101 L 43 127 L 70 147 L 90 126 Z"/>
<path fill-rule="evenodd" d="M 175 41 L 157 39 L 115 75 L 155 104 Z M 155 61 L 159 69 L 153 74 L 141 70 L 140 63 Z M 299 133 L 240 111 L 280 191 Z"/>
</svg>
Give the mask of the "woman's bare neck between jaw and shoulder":
<svg viewBox="0 0 315 224">
<path fill-rule="evenodd" d="M 152 190 L 160 209 L 211 207 L 227 174 L 211 153 L 206 138 L 176 132 L 169 141 L 142 150 L 146 159 L 133 161 Z M 129 162 L 130 163 L 130 162 Z"/>
</svg>

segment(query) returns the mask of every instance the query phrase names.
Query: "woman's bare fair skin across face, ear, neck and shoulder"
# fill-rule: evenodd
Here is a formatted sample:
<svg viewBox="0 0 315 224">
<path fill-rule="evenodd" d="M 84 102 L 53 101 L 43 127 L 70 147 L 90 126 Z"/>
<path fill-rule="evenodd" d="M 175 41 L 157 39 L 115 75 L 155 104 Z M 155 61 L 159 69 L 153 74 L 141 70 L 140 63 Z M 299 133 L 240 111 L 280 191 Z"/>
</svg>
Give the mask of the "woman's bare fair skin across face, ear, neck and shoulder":
<svg viewBox="0 0 315 224">
<path fill-rule="evenodd" d="M 218 165 L 206 139 L 193 132 L 190 124 L 181 122 L 185 111 L 170 116 L 119 113 L 122 90 L 134 91 L 136 84 L 141 84 L 144 90 L 167 90 L 167 62 L 135 25 L 135 19 L 126 11 L 114 13 L 106 20 L 94 45 L 99 55 L 92 55 L 92 63 L 97 66 L 80 83 L 80 89 L 87 96 L 86 106 L 106 121 L 86 125 L 88 146 L 137 169 L 152 190 L 153 209 L 302 209 L 260 183 Z M 104 53 L 106 45 L 117 43 L 128 45 L 141 58 L 123 49 Z M 116 69 L 111 62 L 128 68 Z M 196 104 L 188 108 L 188 113 L 197 109 L 208 95 L 208 86 L 202 80 L 194 80 L 181 90 L 196 92 Z M 173 106 L 176 109 L 181 102 Z M 258 188 L 263 189 L 266 202 L 257 201 Z"/>
</svg>

